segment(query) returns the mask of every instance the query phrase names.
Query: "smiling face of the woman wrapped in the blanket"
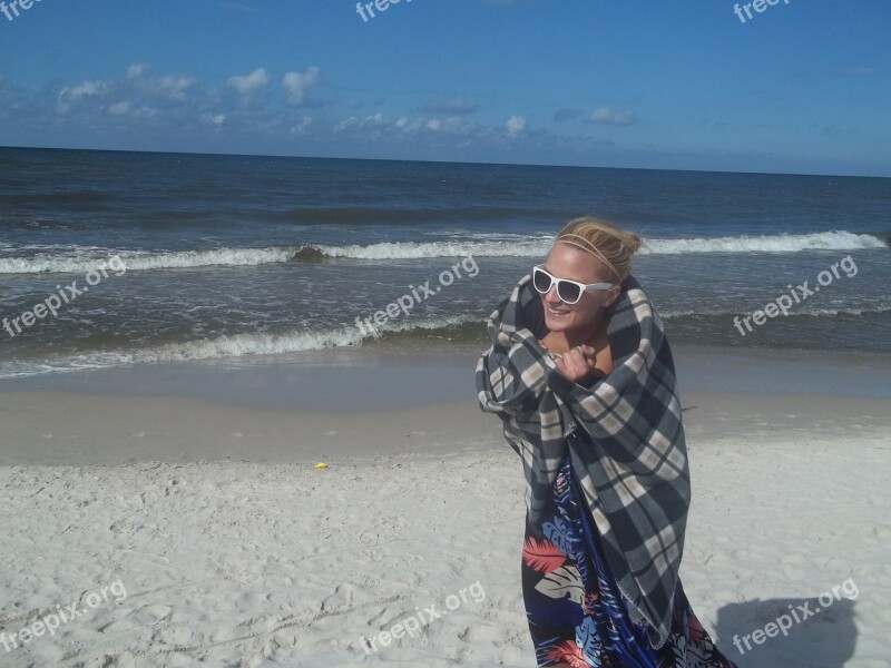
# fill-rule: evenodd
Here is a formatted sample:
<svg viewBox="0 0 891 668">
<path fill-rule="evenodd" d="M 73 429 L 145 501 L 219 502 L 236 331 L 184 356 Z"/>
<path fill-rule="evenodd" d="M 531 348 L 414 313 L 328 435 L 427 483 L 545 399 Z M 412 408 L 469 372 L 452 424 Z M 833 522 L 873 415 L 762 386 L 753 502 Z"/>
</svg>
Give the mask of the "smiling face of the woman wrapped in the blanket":
<svg viewBox="0 0 891 668">
<path fill-rule="evenodd" d="M 569 278 L 579 283 L 615 283 L 604 263 L 578 246 L 556 243 L 545 262 L 545 269 L 558 278 Z M 619 294 L 619 286 L 607 291 L 586 289 L 575 304 L 566 304 L 557 296 L 556 286 L 539 295 L 545 305 L 545 324 L 551 332 L 579 333 L 593 327 L 603 311 Z"/>
</svg>

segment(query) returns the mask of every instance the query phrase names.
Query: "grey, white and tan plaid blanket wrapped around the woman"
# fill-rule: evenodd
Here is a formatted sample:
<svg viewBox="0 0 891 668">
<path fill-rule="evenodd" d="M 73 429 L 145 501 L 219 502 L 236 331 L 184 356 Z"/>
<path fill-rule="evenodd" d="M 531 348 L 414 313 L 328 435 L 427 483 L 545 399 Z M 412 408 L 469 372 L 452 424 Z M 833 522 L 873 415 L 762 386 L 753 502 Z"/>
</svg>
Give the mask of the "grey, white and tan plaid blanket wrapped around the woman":
<svg viewBox="0 0 891 668">
<path fill-rule="evenodd" d="M 689 470 L 672 351 L 634 276 L 609 307 L 613 371 L 591 387 L 568 380 L 527 327 L 540 299 L 525 276 L 489 318 L 477 364 L 480 407 L 503 422 L 522 458 L 532 525 L 568 451 L 603 537 L 606 561 L 654 647 L 668 636 L 684 550 Z"/>
</svg>

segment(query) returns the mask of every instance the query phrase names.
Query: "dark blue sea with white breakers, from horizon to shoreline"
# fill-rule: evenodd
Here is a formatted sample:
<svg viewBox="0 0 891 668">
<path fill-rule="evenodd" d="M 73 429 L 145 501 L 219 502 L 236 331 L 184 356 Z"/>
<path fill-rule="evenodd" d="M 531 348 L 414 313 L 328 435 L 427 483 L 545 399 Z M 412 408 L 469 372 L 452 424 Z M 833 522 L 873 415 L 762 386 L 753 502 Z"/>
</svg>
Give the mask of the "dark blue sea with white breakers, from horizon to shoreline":
<svg viewBox="0 0 891 668">
<path fill-rule="evenodd" d="M 891 353 L 889 178 L 0 148 L 0 379 L 482 351 L 585 215 L 673 343 Z"/>
</svg>

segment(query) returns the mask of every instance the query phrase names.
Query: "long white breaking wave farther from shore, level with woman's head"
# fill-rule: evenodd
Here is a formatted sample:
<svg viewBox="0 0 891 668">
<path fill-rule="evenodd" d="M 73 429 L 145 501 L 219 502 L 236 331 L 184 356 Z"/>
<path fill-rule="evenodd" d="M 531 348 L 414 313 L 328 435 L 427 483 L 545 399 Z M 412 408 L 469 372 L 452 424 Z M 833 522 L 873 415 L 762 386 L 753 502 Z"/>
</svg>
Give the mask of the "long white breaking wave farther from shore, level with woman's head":
<svg viewBox="0 0 891 668">
<path fill-rule="evenodd" d="M 0 274 L 86 273 L 118 255 L 127 269 L 199 268 L 209 266 L 255 266 L 292 261 L 320 259 L 424 259 L 432 257 L 544 257 L 552 236 L 516 235 L 501 238 L 437 242 L 384 242 L 378 244 L 298 244 L 260 248 L 148 252 L 79 248 L 62 253 L 40 252 L 30 256 L 0 257 Z M 781 234 L 738 237 L 645 239 L 640 255 L 689 253 L 799 253 L 802 250 L 856 250 L 887 248 L 875 235 L 851 232 Z"/>
</svg>

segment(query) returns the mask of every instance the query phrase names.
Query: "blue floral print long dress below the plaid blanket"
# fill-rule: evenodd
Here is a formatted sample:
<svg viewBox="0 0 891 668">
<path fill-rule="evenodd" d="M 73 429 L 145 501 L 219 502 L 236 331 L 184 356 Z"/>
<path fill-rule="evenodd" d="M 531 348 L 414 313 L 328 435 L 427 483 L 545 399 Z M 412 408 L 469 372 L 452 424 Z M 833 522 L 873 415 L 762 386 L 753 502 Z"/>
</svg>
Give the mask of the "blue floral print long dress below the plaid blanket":
<svg viewBox="0 0 891 668">
<path fill-rule="evenodd" d="M 522 589 L 538 666 L 735 668 L 693 613 L 679 581 L 668 639 L 653 648 L 645 627 L 630 620 L 577 484 L 567 453 L 541 525 L 530 527 L 527 517 Z"/>
</svg>

